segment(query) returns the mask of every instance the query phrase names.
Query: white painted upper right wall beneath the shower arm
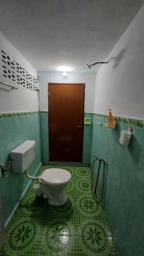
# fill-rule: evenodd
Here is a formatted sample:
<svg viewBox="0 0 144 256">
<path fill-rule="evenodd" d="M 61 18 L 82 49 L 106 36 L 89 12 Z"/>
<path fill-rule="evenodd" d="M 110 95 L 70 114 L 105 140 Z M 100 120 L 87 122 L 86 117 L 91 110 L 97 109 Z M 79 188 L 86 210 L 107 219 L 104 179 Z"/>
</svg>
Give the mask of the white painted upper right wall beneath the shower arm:
<svg viewBox="0 0 144 256">
<path fill-rule="evenodd" d="M 144 118 L 144 5 L 97 73 L 94 112 Z"/>
</svg>

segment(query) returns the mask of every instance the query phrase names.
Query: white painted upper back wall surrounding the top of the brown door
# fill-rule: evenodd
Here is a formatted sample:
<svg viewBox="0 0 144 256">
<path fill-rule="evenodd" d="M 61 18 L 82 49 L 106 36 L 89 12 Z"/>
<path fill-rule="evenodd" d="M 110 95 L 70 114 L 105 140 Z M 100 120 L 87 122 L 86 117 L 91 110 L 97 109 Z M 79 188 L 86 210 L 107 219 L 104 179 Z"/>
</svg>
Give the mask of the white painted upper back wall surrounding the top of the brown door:
<svg viewBox="0 0 144 256">
<path fill-rule="evenodd" d="M 95 78 L 93 73 L 68 73 L 66 77 L 62 75 L 39 75 L 39 89 L 40 89 L 40 109 L 41 111 L 48 110 L 47 100 L 47 83 L 85 83 L 85 112 L 93 112 L 94 106 L 94 90 Z"/>
</svg>

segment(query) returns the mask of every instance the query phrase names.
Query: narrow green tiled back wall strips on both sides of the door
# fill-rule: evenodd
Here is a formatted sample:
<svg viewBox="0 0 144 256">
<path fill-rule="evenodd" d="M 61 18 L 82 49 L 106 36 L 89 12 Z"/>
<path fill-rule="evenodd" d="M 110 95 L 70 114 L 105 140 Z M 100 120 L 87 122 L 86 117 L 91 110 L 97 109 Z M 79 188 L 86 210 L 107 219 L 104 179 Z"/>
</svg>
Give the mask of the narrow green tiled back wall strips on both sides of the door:
<svg viewBox="0 0 144 256">
<path fill-rule="evenodd" d="M 85 113 L 85 117 L 91 118 L 91 124 L 84 125 L 83 162 L 82 163 L 90 164 L 93 115 Z M 41 140 L 42 140 L 43 163 L 49 163 L 48 113 L 46 111 L 41 111 L 40 122 L 41 122 Z M 71 164 L 73 164 L 73 163 L 71 163 Z"/>
</svg>

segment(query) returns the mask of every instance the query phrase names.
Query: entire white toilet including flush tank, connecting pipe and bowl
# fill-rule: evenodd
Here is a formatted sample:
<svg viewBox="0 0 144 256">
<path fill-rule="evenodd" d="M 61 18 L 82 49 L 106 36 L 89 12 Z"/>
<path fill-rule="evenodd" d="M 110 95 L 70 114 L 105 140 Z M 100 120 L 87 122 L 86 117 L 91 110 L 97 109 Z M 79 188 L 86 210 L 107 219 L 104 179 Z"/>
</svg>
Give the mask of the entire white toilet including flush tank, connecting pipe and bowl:
<svg viewBox="0 0 144 256">
<path fill-rule="evenodd" d="M 43 194 L 48 198 L 51 205 L 62 205 L 67 201 L 63 189 L 71 179 L 71 174 L 64 169 L 45 169 L 41 176 L 32 177 L 27 173 L 27 168 L 35 157 L 36 142 L 26 140 L 11 152 L 12 171 L 14 173 L 25 172 L 32 180 L 38 180 L 41 184 L 36 190 L 36 196 Z"/>
</svg>

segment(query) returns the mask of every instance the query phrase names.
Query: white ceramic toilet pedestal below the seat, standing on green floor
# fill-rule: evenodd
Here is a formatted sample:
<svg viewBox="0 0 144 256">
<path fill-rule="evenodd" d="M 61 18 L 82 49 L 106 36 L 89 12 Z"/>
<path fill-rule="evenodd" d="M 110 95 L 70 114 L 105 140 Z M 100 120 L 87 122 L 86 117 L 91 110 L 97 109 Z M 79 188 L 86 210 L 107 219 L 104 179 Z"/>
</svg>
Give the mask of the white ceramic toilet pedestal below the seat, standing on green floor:
<svg viewBox="0 0 144 256">
<path fill-rule="evenodd" d="M 36 190 L 36 197 L 41 197 L 44 194 L 47 197 L 49 204 L 54 206 L 63 205 L 67 201 L 67 197 L 63 191 L 65 186 L 66 184 L 47 185 L 41 183 Z"/>
</svg>

